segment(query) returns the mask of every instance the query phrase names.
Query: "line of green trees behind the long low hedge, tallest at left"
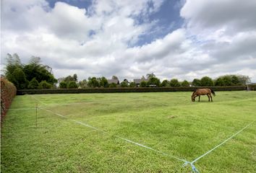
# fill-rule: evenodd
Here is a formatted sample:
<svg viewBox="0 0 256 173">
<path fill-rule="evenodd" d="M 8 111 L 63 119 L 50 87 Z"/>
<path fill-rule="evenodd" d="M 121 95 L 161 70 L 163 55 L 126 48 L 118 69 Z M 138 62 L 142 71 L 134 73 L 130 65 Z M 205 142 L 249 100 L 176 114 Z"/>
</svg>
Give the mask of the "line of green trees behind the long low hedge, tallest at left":
<svg viewBox="0 0 256 173">
<path fill-rule="evenodd" d="M 241 86 L 249 81 L 249 76 L 244 75 L 224 75 L 217 79 L 211 79 L 209 76 L 204 76 L 201 79 L 193 79 L 193 81 L 179 81 L 178 79 L 171 79 L 161 81 L 155 74 L 147 74 L 146 78 L 142 76 L 140 84 L 135 84 L 134 81 L 124 79 L 120 84 L 108 84 L 106 77 L 89 77 L 88 80 L 77 80 L 77 74 L 72 76 L 61 77 L 55 79 L 50 66 L 43 65 L 39 57 L 31 57 L 27 64 L 20 61 L 17 53 L 14 55 L 7 54 L 7 66 L 4 76 L 11 81 L 17 89 L 73 89 L 73 88 L 114 88 L 114 87 L 166 87 L 166 86 Z M 112 79 L 117 79 L 112 76 Z M 59 84 L 57 87 L 56 84 Z"/>
</svg>

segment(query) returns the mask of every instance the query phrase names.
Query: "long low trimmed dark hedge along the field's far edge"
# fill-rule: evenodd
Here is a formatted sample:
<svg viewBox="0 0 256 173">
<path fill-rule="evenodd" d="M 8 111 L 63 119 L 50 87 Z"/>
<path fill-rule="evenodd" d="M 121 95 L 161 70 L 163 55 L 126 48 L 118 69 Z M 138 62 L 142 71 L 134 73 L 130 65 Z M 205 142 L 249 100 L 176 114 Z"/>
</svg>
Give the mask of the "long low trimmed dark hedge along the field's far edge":
<svg viewBox="0 0 256 173">
<path fill-rule="evenodd" d="M 22 94 L 66 94 L 66 93 L 114 93 L 114 92 L 193 92 L 197 88 L 205 87 L 148 87 L 148 88 L 91 88 L 91 89 L 22 89 L 17 90 Z M 245 86 L 212 86 L 214 91 L 241 91 Z"/>
</svg>

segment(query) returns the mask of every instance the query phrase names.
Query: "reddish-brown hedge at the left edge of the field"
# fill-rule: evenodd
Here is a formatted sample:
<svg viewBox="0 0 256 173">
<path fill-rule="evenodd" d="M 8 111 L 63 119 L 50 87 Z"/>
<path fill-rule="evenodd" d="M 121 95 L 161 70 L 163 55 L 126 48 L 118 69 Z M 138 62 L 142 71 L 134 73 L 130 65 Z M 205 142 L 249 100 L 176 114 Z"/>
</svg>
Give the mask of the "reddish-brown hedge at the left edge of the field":
<svg viewBox="0 0 256 173">
<path fill-rule="evenodd" d="M 12 99 L 16 94 L 16 87 L 12 82 L 1 77 L 1 120 L 6 115 Z"/>
</svg>

